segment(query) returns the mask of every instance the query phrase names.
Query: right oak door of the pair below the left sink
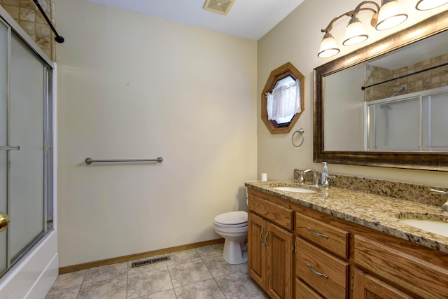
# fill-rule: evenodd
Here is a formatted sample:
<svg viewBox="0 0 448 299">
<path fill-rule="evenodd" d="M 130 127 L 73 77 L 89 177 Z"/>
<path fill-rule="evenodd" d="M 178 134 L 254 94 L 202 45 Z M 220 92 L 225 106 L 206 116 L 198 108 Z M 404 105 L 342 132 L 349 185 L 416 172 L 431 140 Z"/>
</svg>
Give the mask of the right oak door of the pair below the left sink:
<svg viewBox="0 0 448 299">
<path fill-rule="evenodd" d="M 293 297 L 293 234 L 267 223 L 267 293 L 271 298 Z"/>
</svg>

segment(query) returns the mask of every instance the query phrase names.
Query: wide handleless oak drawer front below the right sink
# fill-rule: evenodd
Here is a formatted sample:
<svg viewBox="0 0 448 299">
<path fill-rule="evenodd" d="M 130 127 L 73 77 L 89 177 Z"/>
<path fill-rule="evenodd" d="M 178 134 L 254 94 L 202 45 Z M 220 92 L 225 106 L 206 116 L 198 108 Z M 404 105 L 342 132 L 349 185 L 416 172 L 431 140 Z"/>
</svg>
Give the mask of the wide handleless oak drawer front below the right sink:
<svg viewBox="0 0 448 299">
<path fill-rule="evenodd" d="M 353 260 L 366 272 L 421 298 L 447 298 L 448 270 L 384 244 L 354 236 Z"/>
</svg>

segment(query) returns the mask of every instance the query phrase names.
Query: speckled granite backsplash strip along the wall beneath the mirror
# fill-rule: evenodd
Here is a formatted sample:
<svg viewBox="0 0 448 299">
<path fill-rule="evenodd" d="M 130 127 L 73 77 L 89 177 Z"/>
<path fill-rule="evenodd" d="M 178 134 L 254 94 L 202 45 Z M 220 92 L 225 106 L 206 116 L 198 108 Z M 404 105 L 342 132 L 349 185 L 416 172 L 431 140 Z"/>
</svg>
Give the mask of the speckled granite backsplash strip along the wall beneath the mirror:
<svg viewBox="0 0 448 299">
<path fill-rule="evenodd" d="M 301 169 L 294 169 L 294 179 L 299 179 Z M 392 197 L 399 200 L 409 200 L 421 204 L 430 204 L 441 207 L 447 201 L 446 195 L 430 194 L 430 189 L 447 191 L 448 188 L 440 186 L 419 185 L 416 183 L 402 183 L 398 181 L 386 181 L 381 179 L 370 179 L 367 177 L 347 176 L 343 174 L 330 173 L 336 179 L 330 181 L 330 186 L 348 189 L 357 192 L 369 193 L 384 197 Z M 304 176 L 305 182 L 312 181 L 312 174 Z"/>
</svg>

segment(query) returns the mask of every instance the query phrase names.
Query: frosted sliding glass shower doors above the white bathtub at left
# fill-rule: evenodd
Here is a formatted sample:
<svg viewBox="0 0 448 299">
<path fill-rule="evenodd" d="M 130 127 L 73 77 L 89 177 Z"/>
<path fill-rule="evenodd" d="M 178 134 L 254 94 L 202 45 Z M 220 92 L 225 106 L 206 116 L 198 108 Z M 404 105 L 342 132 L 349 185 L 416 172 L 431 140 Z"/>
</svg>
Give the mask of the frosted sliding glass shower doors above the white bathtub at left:
<svg viewBox="0 0 448 299">
<path fill-rule="evenodd" d="M 51 71 L 0 20 L 0 281 L 52 228 Z"/>
</svg>

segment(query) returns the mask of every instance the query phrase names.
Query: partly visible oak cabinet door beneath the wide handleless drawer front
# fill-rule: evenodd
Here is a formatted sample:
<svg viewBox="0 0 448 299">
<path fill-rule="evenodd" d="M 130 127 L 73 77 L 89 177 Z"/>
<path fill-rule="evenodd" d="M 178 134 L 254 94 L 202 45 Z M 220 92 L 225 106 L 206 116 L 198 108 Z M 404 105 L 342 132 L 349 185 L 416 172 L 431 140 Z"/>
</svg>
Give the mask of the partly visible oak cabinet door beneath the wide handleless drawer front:
<svg viewBox="0 0 448 299">
<path fill-rule="evenodd" d="M 412 299 L 402 291 L 385 284 L 365 272 L 353 271 L 353 298 L 356 299 Z"/>
</svg>

